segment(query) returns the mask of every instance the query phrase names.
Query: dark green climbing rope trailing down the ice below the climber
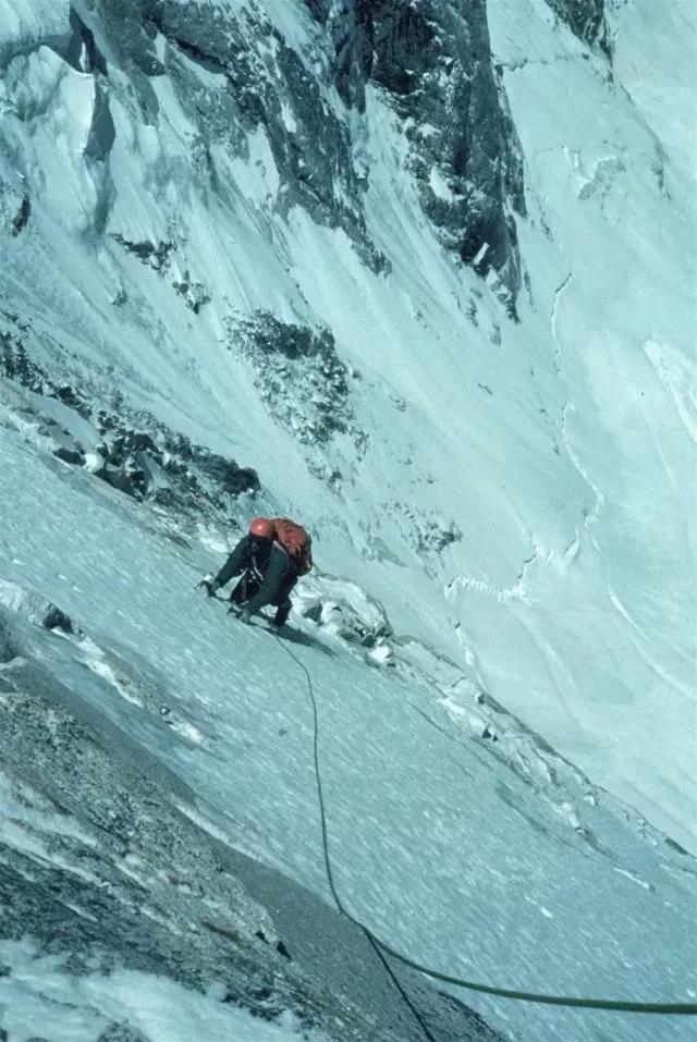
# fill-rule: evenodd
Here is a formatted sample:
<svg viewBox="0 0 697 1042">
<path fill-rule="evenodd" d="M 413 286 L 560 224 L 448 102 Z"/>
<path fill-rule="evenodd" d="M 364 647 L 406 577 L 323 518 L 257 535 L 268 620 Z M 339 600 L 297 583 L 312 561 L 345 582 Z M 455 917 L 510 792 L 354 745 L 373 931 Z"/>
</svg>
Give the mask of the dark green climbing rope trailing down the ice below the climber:
<svg viewBox="0 0 697 1042">
<path fill-rule="evenodd" d="M 518 991 L 513 988 L 494 988 L 491 984 L 481 984 L 475 981 L 464 980 L 461 977 L 453 977 L 450 973 L 441 973 L 438 970 L 432 970 L 427 966 L 421 966 L 420 963 L 416 963 L 413 959 L 407 958 L 405 955 L 402 955 L 400 952 L 396 952 L 394 948 L 390 947 L 389 944 L 386 944 L 384 941 L 381 941 L 380 937 L 376 936 L 371 930 L 368 929 L 363 922 L 355 918 L 343 905 L 341 897 L 337 891 L 334 883 L 334 876 L 332 872 L 331 859 L 329 856 L 329 834 L 327 830 L 327 810 L 325 806 L 325 795 L 322 792 L 322 782 L 321 773 L 319 769 L 319 714 L 317 711 L 317 699 L 315 698 L 315 691 L 313 688 L 313 679 L 309 675 L 307 667 L 304 662 L 298 659 L 298 657 L 283 642 L 283 640 L 274 634 L 276 639 L 283 650 L 296 662 L 301 667 L 305 677 L 307 679 L 307 689 L 309 691 L 309 697 L 313 703 L 313 718 L 314 718 L 314 753 L 315 753 L 315 774 L 317 779 L 317 796 L 319 800 L 319 813 L 321 822 L 321 833 L 322 833 L 322 847 L 325 853 L 325 869 L 327 872 L 327 880 L 329 882 L 329 888 L 331 895 L 334 898 L 334 903 L 339 911 L 348 919 L 350 922 L 353 922 L 354 925 L 363 930 L 364 934 L 371 943 L 374 948 L 378 952 L 382 952 L 391 955 L 393 959 L 396 959 L 398 963 L 401 963 L 403 966 L 407 966 L 409 969 L 416 970 L 419 973 L 424 973 L 425 977 L 429 977 L 432 980 L 443 981 L 447 984 L 456 984 L 458 988 L 466 988 L 469 991 L 482 992 L 486 995 L 499 995 L 502 998 L 516 998 L 519 1002 L 535 1002 L 535 1003 L 545 1003 L 550 1006 L 572 1006 L 582 1009 L 610 1009 L 622 1013 L 641 1013 L 641 1014 L 665 1014 L 665 1015 L 683 1015 L 683 1016 L 697 1016 L 697 1003 L 653 1003 L 653 1002 L 622 1002 L 610 998 L 574 998 L 566 995 L 549 995 L 540 994 L 538 992 L 527 992 Z M 395 986 L 399 989 L 404 1001 L 408 1005 L 409 1009 L 418 1020 L 426 1038 L 429 1042 L 435 1042 L 432 1034 L 430 1034 L 428 1028 L 424 1023 L 418 1012 L 415 1009 L 414 1005 L 409 1001 L 408 996 L 404 992 L 403 988 L 394 977 L 394 973 L 388 966 L 384 959 L 381 959 L 386 969 L 390 973 L 390 977 L 394 981 Z"/>
</svg>

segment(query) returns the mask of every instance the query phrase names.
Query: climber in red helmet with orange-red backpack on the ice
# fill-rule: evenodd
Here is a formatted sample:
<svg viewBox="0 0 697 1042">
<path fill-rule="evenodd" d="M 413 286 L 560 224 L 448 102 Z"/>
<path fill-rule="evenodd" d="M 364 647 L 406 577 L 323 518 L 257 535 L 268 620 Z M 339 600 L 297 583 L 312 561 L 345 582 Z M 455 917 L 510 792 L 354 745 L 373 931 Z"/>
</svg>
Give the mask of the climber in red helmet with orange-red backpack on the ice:
<svg viewBox="0 0 697 1042">
<path fill-rule="evenodd" d="M 241 606 L 237 617 L 248 623 L 261 608 L 272 604 L 273 625 L 280 628 L 291 612 L 291 590 L 313 566 L 310 542 L 305 529 L 288 517 L 255 517 L 218 575 L 206 576 L 198 585 L 213 597 L 233 576 L 241 575 L 230 594 L 229 611 Z"/>
</svg>

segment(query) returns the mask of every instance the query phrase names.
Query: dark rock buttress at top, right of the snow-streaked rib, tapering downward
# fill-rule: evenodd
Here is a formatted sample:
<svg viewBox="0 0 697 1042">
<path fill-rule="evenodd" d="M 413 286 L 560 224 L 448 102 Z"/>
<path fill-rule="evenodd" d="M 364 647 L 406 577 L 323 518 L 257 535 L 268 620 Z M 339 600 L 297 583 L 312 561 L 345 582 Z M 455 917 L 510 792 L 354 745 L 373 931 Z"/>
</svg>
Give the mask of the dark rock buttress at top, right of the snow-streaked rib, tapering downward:
<svg viewBox="0 0 697 1042">
<path fill-rule="evenodd" d="M 366 83 L 384 88 L 405 123 L 424 211 L 463 262 L 492 273 L 514 314 L 523 166 L 491 63 L 485 0 L 306 3 L 331 34 L 345 103 L 363 111 Z"/>
</svg>

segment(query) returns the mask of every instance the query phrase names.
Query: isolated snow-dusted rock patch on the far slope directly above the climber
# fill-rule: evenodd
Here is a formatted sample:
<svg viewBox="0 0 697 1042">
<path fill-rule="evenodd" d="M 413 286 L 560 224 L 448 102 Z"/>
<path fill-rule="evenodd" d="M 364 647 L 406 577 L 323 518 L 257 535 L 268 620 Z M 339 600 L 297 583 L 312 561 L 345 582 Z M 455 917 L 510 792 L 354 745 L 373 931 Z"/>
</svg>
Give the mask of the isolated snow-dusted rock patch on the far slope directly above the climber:
<svg viewBox="0 0 697 1042">
<path fill-rule="evenodd" d="M 338 433 L 360 441 L 348 370 L 328 329 L 314 331 L 255 311 L 231 317 L 228 332 L 229 347 L 252 363 L 259 396 L 281 427 L 308 445 L 326 445 Z"/>
</svg>

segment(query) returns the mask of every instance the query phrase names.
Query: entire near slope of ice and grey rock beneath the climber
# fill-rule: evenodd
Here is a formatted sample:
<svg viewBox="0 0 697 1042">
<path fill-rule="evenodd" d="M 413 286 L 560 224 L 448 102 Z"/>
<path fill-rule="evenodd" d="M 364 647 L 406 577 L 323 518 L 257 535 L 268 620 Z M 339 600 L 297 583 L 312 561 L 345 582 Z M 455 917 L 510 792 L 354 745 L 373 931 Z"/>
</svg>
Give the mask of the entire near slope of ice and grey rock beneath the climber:
<svg viewBox="0 0 697 1042">
<path fill-rule="evenodd" d="M 10 1040 L 96 1042 L 121 1023 L 137 1042 L 257 1042 L 261 1018 L 265 1042 L 290 1042 L 303 1037 L 291 1013 L 337 1042 L 424 1038 L 333 907 L 303 667 L 353 916 L 466 979 L 694 1002 L 694 858 L 456 662 L 388 636 L 379 605 L 323 576 L 277 641 L 194 589 L 210 552 L 152 510 L 4 427 L 0 461 Z M 366 664 L 367 635 L 390 660 Z M 444 994 L 393 967 L 444 1042 L 687 1037 L 680 1017 Z"/>
</svg>

